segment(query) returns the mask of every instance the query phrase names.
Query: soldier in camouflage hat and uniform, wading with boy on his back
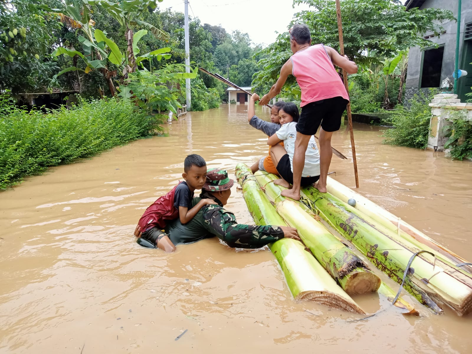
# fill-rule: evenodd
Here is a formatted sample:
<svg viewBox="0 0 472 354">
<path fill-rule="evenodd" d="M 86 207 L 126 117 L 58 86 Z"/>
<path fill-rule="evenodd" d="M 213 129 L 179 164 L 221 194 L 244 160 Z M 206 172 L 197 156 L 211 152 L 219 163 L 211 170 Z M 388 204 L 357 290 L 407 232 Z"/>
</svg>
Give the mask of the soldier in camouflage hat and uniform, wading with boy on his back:
<svg viewBox="0 0 472 354">
<path fill-rule="evenodd" d="M 235 215 L 223 208 L 228 202 L 233 184 L 234 181 L 228 178 L 226 170 L 209 169 L 206 183 L 202 187 L 202 194 L 194 198 L 192 204 L 198 203 L 201 198 L 211 198 L 218 205 L 205 205 L 186 224 L 182 224 L 179 219 L 170 222 L 165 229 L 170 241 L 173 244 L 189 244 L 203 238 L 217 236 L 230 247 L 260 248 L 284 237 L 299 239 L 296 229 L 287 226 L 238 224 Z M 135 230 L 135 236 L 140 236 L 138 227 Z"/>
</svg>

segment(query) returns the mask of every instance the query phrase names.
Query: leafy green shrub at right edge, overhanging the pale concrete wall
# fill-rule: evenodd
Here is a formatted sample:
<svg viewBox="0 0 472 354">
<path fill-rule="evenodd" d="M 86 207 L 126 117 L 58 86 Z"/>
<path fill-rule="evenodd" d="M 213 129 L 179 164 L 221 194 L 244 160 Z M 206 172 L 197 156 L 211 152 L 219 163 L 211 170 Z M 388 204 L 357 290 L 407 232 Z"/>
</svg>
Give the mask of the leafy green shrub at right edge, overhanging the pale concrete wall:
<svg viewBox="0 0 472 354">
<path fill-rule="evenodd" d="M 444 144 L 445 149 L 451 149 L 449 155 L 456 160 L 472 159 L 472 122 L 465 119 L 467 111 L 454 112 L 458 117 L 450 117 L 452 126 L 449 126 Z M 454 115 L 454 114 L 453 114 Z"/>
</svg>

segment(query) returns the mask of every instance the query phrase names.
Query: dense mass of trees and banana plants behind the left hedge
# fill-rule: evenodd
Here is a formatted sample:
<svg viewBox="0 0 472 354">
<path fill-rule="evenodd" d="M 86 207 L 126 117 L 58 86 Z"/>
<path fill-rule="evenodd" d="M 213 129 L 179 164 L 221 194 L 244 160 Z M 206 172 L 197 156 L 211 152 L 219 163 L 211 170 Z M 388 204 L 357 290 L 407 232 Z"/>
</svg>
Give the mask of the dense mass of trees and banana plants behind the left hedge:
<svg viewBox="0 0 472 354">
<path fill-rule="evenodd" d="M 113 96 L 133 79 L 142 82 L 143 75 L 128 77 L 136 70 L 184 64 L 184 14 L 159 8 L 159 1 L 0 0 L 0 89 L 18 99 L 18 93 L 52 90 Z M 201 25 L 190 17 L 189 39 L 192 69 L 228 76 L 232 67 L 236 84 L 250 84 L 257 64 L 247 34 L 228 34 L 220 25 Z M 169 51 L 156 55 L 160 48 Z M 192 87 L 196 101 L 189 109 L 217 107 L 227 97 L 227 86 L 204 74 L 198 77 Z"/>
</svg>

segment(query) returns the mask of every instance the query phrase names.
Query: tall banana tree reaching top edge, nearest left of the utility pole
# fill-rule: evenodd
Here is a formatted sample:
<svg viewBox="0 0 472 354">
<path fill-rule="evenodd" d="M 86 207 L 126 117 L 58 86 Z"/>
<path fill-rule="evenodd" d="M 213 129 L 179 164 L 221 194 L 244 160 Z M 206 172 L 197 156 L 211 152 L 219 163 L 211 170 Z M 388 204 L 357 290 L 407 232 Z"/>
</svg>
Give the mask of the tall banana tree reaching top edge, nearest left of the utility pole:
<svg viewBox="0 0 472 354">
<path fill-rule="evenodd" d="M 147 8 L 156 8 L 157 2 L 162 0 L 118 0 L 118 2 L 111 2 L 107 0 L 97 1 L 102 8 L 104 8 L 111 17 L 118 21 L 118 24 L 125 32 L 125 38 L 127 41 L 126 46 L 126 66 L 123 70 L 123 76 L 127 76 L 127 73 L 136 71 L 136 48 L 133 46 L 133 42 L 137 42 L 141 37 L 138 35 L 141 31 L 134 33 L 137 26 L 147 28 L 156 38 L 164 41 L 169 40 L 169 34 L 162 31 L 161 29 L 151 25 L 150 23 L 144 22 L 139 19 L 140 15 Z M 141 35 L 142 36 L 142 35 Z"/>
</svg>

